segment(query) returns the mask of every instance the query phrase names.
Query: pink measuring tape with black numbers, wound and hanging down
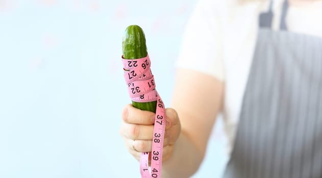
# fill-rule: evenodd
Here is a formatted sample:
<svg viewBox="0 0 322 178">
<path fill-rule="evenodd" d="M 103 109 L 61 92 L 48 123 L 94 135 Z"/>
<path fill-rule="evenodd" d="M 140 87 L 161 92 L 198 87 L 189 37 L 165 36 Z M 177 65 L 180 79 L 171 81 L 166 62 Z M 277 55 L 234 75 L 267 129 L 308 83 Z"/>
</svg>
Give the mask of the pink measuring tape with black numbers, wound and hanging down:
<svg viewBox="0 0 322 178">
<path fill-rule="evenodd" d="M 165 130 L 165 108 L 157 90 L 150 66 L 150 57 L 147 55 L 135 60 L 126 60 L 122 56 L 124 78 L 128 84 L 128 90 L 132 101 L 152 102 L 157 101 L 156 117 L 154 122 L 152 152 L 141 154 L 141 177 L 161 177 L 162 153 Z M 151 174 L 148 167 L 148 156 L 151 155 Z"/>
</svg>

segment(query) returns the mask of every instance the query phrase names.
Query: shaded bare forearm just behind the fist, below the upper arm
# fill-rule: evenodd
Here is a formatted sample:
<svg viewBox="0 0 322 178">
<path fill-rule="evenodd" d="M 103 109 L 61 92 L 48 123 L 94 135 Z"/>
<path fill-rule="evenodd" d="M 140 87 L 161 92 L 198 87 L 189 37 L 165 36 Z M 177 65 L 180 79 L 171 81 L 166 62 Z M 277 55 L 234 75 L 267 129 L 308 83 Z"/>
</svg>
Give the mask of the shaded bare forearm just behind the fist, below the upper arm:
<svg viewBox="0 0 322 178">
<path fill-rule="evenodd" d="M 162 177 L 189 177 L 199 168 L 202 154 L 182 131 L 173 147 L 172 154 L 163 162 Z"/>
</svg>

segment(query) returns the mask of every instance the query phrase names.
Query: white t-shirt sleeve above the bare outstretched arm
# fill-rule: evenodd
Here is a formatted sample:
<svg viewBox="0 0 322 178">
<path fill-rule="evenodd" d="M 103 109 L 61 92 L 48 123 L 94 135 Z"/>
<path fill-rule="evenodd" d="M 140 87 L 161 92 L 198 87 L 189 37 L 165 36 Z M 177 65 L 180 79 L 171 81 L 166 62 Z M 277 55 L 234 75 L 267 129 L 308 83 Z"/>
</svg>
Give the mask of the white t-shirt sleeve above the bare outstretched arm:
<svg viewBox="0 0 322 178">
<path fill-rule="evenodd" d="M 222 26 L 215 2 L 197 2 L 185 27 L 176 67 L 197 70 L 224 81 Z"/>
</svg>

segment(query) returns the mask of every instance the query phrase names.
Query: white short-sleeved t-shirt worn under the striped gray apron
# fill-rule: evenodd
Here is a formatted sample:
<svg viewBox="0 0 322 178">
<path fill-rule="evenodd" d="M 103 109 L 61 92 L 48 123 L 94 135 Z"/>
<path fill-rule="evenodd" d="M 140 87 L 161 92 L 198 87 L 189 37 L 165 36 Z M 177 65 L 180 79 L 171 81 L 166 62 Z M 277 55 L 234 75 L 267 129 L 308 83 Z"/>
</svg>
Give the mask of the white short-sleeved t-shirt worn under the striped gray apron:
<svg viewBox="0 0 322 178">
<path fill-rule="evenodd" d="M 275 0 L 272 28 L 279 29 L 282 4 Z M 265 0 L 200 0 L 186 25 L 179 68 L 197 70 L 225 82 L 224 123 L 228 152 L 233 147 L 242 98 L 255 50 L 258 17 Z M 322 1 L 290 2 L 288 31 L 322 38 Z"/>
</svg>

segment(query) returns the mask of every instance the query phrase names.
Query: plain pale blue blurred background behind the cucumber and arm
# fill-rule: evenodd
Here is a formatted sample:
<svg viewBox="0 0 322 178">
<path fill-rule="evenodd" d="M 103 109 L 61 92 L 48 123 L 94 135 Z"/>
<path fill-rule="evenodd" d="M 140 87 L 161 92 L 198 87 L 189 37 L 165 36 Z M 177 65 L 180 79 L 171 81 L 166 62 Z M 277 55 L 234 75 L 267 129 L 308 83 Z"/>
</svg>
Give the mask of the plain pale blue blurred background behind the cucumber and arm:
<svg viewBox="0 0 322 178">
<path fill-rule="evenodd" d="M 119 135 L 131 102 L 125 28 L 146 36 L 169 107 L 184 26 L 196 0 L 0 0 L 0 177 L 140 177 Z M 168 104 L 167 104 L 168 103 Z M 221 121 L 193 177 L 220 177 Z"/>
</svg>

